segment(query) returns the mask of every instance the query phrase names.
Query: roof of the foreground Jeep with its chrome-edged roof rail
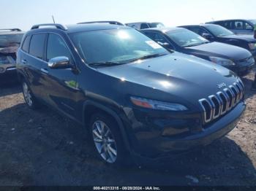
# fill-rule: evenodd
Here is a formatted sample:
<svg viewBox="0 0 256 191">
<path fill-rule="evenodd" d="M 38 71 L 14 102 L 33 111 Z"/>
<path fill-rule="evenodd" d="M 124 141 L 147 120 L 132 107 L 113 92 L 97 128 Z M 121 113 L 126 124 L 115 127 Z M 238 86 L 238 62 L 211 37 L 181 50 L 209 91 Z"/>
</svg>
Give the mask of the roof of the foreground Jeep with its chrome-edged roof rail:
<svg viewBox="0 0 256 191">
<path fill-rule="evenodd" d="M 43 26 L 39 28 L 38 26 Z M 47 27 L 48 26 L 48 27 Z M 56 28 L 54 28 L 56 26 Z M 86 24 L 76 24 L 69 26 L 62 26 L 61 24 L 42 24 L 33 26 L 29 33 L 33 33 L 34 31 L 63 31 L 67 34 L 76 33 L 80 31 L 98 31 L 98 30 L 107 30 L 107 29 L 117 29 L 117 28 L 128 28 L 127 26 L 118 26 L 112 25 L 108 23 L 86 23 Z"/>
</svg>

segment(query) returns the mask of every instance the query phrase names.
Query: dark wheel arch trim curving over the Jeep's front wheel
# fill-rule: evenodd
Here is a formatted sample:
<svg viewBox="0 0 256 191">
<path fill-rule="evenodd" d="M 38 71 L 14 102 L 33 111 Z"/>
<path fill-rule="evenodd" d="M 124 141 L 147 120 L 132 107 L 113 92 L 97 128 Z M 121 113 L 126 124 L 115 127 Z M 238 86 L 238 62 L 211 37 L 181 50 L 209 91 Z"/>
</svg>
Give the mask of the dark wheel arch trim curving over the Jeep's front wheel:
<svg viewBox="0 0 256 191">
<path fill-rule="evenodd" d="M 95 107 L 103 110 L 104 112 L 110 114 L 112 117 L 114 117 L 114 119 L 118 123 L 118 128 L 120 129 L 121 136 L 124 140 L 124 145 L 127 148 L 127 150 L 129 151 L 129 153 L 132 155 L 133 151 L 132 151 L 132 148 L 130 147 L 129 141 L 127 139 L 126 130 L 124 129 L 123 122 L 121 121 L 120 117 L 118 117 L 118 114 L 116 114 L 116 112 L 114 112 L 112 109 L 109 109 L 108 107 L 106 107 L 102 104 L 99 104 L 95 101 L 87 100 L 83 103 L 83 125 L 86 124 L 86 114 L 85 114 L 85 112 L 86 112 L 86 107 L 87 106 L 95 106 Z"/>
</svg>

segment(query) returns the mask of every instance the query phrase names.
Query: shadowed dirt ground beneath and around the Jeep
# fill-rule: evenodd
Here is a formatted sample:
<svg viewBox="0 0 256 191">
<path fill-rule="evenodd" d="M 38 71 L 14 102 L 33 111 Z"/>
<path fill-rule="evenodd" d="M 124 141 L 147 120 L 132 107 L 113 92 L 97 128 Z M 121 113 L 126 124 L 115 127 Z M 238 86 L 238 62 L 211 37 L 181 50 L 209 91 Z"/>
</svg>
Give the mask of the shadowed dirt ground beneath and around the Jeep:
<svg viewBox="0 0 256 191">
<path fill-rule="evenodd" d="M 246 84 L 244 118 L 224 138 L 155 167 L 111 168 L 84 130 L 44 107 L 26 107 L 20 87 L 0 88 L 0 185 L 256 185 L 256 92 Z"/>
</svg>

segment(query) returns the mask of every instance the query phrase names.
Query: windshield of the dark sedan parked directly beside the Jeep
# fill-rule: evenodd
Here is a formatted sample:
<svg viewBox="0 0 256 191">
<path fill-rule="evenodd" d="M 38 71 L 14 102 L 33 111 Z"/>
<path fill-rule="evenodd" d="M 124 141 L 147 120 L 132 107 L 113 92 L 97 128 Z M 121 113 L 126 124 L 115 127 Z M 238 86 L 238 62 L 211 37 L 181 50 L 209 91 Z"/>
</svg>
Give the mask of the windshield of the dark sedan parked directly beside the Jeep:
<svg viewBox="0 0 256 191">
<path fill-rule="evenodd" d="M 181 47 L 192 47 L 199 44 L 208 43 L 208 40 L 204 39 L 202 36 L 193 33 L 187 29 L 178 29 L 174 31 L 168 31 L 167 36 L 173 40 L 178 46 Z"/>
</svg>

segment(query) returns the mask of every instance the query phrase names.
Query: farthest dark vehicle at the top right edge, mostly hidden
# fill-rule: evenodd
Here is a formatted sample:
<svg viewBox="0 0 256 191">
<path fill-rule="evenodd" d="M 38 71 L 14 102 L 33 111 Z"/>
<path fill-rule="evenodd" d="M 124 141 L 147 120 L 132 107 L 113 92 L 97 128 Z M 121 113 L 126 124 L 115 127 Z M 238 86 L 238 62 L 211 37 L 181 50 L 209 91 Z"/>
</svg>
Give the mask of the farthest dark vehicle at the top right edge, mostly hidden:
<svg viewBox="0 0 256 191">
<path fill-rule="evenodd" d="M 233 19 L 233 20 L 217 20 L 211 21 L 206 24 L 216 24 L 223 26 L 230 31 L 233 31 L 234 34 L 249 34 L 253 35 L 253 29 L 256 25 L 256 20 L 244 20 L 244 19 Z"/>
</svg>

